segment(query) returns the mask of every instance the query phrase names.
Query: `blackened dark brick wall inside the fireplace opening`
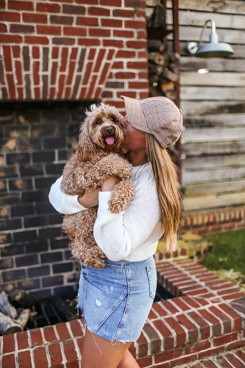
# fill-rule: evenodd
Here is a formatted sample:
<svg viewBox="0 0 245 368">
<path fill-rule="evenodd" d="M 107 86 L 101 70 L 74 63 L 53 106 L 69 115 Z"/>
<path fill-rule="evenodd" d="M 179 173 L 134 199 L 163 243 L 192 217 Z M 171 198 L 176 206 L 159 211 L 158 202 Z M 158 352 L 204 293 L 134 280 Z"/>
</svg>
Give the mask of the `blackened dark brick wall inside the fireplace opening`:
<svg viewBox="0 0 245 368">
<path fill-rule="evenodd" d="M 0 290 L 21 287 L 39 298 L 76 290 L 80 265 L 70 260 L 62 216 L 48 192 L 73 151 L 90 102 L 0 106 Z"/>
</svg>

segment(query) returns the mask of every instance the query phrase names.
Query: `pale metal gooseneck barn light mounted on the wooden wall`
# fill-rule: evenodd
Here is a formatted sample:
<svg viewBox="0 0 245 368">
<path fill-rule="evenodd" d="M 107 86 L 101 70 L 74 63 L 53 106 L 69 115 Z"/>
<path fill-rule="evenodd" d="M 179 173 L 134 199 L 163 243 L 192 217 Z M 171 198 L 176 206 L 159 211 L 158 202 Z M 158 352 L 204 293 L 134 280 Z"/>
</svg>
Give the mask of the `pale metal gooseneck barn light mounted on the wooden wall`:
<svg viewBox="0 0 245 368">
<path fill-rule="evenodd" d="M 208 22 L 211 22 L 212 24 L 210 41 L 205 45 L 201 45 L 203 31 Z M 191 54 L 194 54 L 196 57 L 227 57 L 234 54 L 231 45 L 225 42 L 218 42 L 218 35 L 215 32 L 215 22 L 212 19 L 207 20 L 206 23 L 203 25 L 199 42 L 189 42 L 187 45 L 187 50 Z"/>
</svg>

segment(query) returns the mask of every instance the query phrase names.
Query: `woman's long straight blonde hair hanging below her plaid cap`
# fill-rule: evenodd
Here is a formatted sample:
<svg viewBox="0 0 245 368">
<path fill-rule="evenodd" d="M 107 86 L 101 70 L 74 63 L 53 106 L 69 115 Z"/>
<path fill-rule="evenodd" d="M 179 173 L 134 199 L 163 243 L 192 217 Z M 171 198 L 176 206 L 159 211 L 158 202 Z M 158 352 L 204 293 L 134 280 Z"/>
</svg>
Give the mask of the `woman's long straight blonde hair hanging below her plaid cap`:
<svg viewBox="0 0 245 368">
<path fill-rule="evenodd" d="M 148 160 L 151 162 L 161 208 L 161 223 L 166 252 L 177 249 L 177 232 L 180 220 L 180 193 L 177 168 L 169 153 L 152 134 L 145 134 Z"/>
</svg>

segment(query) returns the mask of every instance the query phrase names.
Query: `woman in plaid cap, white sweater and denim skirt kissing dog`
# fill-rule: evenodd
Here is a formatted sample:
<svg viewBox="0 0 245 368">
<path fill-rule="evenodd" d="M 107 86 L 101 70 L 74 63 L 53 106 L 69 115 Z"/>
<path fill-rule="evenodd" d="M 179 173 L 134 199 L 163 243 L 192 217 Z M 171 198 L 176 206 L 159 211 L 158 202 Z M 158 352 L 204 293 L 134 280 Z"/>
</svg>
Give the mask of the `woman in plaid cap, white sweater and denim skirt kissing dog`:
<svg viewBox="0 0 245 368">
<path fill-rule="evenodd" d="M 139 367 L 128 348 L 140 336 L 156 291 L 153 254 L 164 232 L 165 250 L 177 248 L 180 217 L 176 169 L 166 147 L 182 131 L 181 111 L 165 97 L 125 101 L 121 120 L 129 148 L 136 192 L 125 211 L 112 214 L 107 202 L 118 178 L 109 177 L 82 197 L 60 191 L 53 184 L 50 201 L 62 213 L 76 213 L 98 205 L 94 238 L 106 255 L 99 270 L 84 266 L 78 306 L 84 310 L 86 334 L 82 368 Z M 120 343 L 122 342 L 122 343 Z"/>
</svg>

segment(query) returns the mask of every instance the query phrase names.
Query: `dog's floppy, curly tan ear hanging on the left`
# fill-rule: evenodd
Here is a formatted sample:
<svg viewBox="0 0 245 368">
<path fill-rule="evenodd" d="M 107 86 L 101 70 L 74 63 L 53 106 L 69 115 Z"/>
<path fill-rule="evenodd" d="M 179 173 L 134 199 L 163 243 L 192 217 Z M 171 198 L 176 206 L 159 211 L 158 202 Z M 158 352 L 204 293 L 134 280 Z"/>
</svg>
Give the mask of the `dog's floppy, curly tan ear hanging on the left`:
<svg viewBox="0 0 245 368">
<path fill-rule="evenodd" d="M 96 145 L 92 141 L 86 125 L 80 130 L 79 141 L 76 144 L 76 153 L 81 161 L 93 161 L 96 157 Z"/>
</svg>

